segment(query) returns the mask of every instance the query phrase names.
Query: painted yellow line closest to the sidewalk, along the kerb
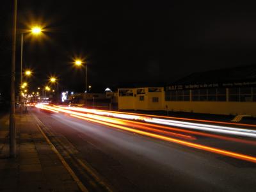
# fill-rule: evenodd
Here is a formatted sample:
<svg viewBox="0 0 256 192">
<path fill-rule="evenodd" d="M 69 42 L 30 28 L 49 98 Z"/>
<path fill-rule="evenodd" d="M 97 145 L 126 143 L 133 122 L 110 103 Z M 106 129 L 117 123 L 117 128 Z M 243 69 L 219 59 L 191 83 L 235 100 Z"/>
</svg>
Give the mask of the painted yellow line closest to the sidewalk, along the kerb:
<svg viewBox="0 0 256 192">
<path fill-rule="evenodd" d="M 33 115 L 34 118 L 42 123 L 35 115 Z M 43 124 L 43 123 L 42 123 Z M 60 152 L 58 152 L 58 150 L 54 147 L 54 145 L 51 143 L 51 141 L 49 140 L 49 138 L 46 136 L 46 134 L 44 133 L 44 131 L 41 129 L 41 127 L 36 124 L 36 126 L 38 127 L 39 131 L 42 133 L 42 135 L 44 136 L 45 140 L 47 141 L 47 143 L 51 146 L 52 150 L 56 153 L 56 155 L 60 158 L 61 163 L 63 164 L 63 166 L 65 166 L 65 168 L 68 170 L 68 172 L 70 173 L 70 175 L 72 176 L 72 178 L 76 181 L 77 186 L 79 186 L 79 188 L 81 189 L 81 191 L 83 192 L 88 192 L 88 189 L 84 186 L 83 182 L 81 182 L 81 180 L 79 180 L 79 178 L 76 176 L 76 173 L 74 173 L 74 171 L 72 170 L 72 168 L 70 168 L 70 166 L 68 165 L 68 163 L 65 161 L 65 159 L 61 156 Z"/>
</svg>

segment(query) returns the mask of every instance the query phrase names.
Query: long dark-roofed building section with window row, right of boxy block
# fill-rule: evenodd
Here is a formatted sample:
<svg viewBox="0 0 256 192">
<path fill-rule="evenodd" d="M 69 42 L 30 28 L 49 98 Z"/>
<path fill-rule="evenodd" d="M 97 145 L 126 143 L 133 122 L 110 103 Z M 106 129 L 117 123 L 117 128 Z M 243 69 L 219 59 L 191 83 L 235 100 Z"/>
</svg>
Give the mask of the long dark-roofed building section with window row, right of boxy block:
<svg viewBox="0 0 256 192">
<path fill-rule="evenodd" d="M 198 72 L 166 86 L 168 110 L 256 116 L 256 65 Z"/>
</svg>

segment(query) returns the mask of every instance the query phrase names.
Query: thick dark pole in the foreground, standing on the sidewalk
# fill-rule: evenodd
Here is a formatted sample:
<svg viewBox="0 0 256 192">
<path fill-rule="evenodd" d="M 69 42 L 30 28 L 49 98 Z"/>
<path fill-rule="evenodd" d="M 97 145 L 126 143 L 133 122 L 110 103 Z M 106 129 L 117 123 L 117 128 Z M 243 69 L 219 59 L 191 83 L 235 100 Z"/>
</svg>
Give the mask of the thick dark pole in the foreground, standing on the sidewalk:
<svg viewBox="0 0 256 192">
<path fill-rule="evenodd" d="M 11 69 L 11 113 L 10 113 L 10 157 L 16 157 L 15 128 L 15 53 L 16 53 L 17 0 L 13 0 L 12 69 Z"/>
</svg>

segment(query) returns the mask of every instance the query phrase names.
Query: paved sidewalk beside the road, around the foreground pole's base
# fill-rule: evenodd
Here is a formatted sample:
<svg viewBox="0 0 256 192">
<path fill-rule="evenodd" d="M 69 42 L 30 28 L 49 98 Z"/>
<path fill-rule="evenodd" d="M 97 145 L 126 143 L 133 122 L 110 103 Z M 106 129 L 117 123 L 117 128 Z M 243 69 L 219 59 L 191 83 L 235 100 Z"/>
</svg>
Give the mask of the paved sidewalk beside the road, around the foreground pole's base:
<svg viewBox="0 0 256 192">
<path fill-rule="evenodd" d="M 9 158 L 8 118 L 0 119 L 0 191 L 80 191 L 28 113 L 16 115 L 17 157 Z"/>
</svg>

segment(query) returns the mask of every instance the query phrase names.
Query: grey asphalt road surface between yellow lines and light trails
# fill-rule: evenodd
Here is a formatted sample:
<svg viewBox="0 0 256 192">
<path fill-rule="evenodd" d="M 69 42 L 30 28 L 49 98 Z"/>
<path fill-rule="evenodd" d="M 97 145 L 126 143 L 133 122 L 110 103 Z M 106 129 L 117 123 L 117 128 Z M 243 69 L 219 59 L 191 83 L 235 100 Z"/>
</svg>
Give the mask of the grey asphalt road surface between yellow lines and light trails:
<svg viewBox="0 0 256 192">
<path fill-rule="evenodd" d="M 256 191 L 256 163 L 31 108 L 114 191 Z M 239 137 L 241 138 L 241 137 Z M 199 137 L 199 143 L 256 154 L 255 146 Z"/>
</svg>

